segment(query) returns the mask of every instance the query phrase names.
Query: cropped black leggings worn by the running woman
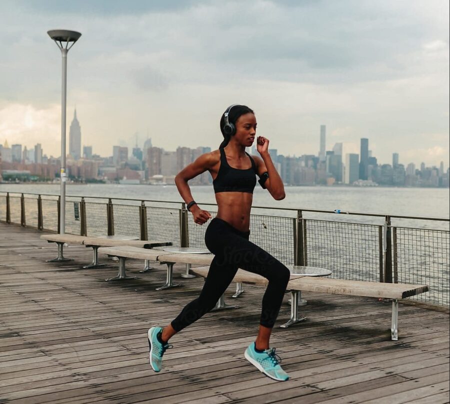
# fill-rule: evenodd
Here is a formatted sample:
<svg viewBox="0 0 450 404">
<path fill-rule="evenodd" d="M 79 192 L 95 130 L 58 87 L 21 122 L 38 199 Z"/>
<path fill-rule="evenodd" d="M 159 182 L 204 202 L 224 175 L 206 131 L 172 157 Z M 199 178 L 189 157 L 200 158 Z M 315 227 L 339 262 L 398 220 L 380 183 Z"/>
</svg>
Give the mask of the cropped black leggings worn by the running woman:
<svg viewBox="0 0 450 404">
<path fill-rule="evenodd" d="M 249 235 L 249 231 L 241 232 L 222 219 L 211 220 L 206 229 L 204 241 L 208 250 L 215 256 L 200 296 L 188 303 L 178 317 L 171 322 L 176 332 L 214 308 L 233 280 L 238 268 L 262 275 L 268 280 L 267 289 L 262 298 L 259 324 L 264 327 L 273 327 L 290 273 L 276 258 L 248 241 Z"/>
</svg>

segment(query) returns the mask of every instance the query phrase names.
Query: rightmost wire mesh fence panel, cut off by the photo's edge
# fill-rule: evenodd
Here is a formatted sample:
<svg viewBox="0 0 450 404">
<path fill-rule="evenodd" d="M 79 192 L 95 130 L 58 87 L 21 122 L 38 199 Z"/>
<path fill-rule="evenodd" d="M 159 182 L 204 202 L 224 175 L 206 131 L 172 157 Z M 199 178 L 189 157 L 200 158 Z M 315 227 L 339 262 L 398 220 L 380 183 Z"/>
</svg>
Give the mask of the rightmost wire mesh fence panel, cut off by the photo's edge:
<svg viewBox="0 0 450 404">
<path fill-rule="evenodd" d="M 425 284 L 429 292 L 411 299 L 449 305 L 449 232 L 393 228 L 394 282 Z"/>
</svg>

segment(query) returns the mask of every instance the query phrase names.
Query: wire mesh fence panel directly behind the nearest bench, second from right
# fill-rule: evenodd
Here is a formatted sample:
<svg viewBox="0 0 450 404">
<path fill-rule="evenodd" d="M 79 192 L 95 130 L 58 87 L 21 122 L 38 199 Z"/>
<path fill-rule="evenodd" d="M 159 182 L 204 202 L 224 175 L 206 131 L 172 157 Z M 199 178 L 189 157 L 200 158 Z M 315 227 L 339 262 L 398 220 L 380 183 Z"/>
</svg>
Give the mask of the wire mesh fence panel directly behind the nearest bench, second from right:
<svg viewBox="0 0 450 404">
<path fill-rule="evenodd" d="M 380 226 L 304 220 L 305 262 L 332 271 L 331 277 L 379 281 Z"/>
</svg>

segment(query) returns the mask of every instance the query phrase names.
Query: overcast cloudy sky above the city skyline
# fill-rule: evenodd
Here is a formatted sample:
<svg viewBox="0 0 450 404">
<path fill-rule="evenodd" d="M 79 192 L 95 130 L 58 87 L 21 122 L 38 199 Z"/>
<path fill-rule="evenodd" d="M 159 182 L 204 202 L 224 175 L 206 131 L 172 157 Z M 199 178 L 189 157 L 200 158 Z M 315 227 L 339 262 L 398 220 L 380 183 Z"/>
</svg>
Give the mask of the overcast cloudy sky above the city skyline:
<svg viewBox="0 0 450 404">
<path fill-rule="evenodd" d="M 67 127 L 82 145 L 209 146 L 233 103 L 255 111 L 279 154 L 359 139 L 380 163 L 449 162 L 448 0 L 0 2 L 0 142 L 60 155 L 61 55 L 48 29 L 80 31 L 68 53 Z M 68 130 L 67 130 L 68 136 Z M 68 141 L 68 138 L 67 138 Z"/>
</svg>

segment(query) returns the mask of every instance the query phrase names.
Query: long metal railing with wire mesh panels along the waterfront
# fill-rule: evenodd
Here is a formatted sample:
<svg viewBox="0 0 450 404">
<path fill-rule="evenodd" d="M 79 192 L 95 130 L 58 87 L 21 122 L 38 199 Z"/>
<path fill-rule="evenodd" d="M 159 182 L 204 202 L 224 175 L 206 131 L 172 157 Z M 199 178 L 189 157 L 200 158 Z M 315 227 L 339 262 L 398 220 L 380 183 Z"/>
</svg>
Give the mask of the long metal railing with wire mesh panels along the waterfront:
<svg viewBox="0 0 450 404">
<path fill-rule="evenodd" d="M 211 206 L 215 217 L 215 204 L 201 205 Z M 54 195 L 0 193 L 0 221 L 5 223 L 57 232 L 58 207 Z M 258 209 L 282 215 L 251 214 L 250 241 L 284 264 L 327 268 L 338 279 L 426 284 L 430 292 L 411 299 L 449 306 L 449 219 L 252 207 Z M 311 214 L 315 217 L 306 217 Z M 393 219 L 399 224 L 392 225 Z M 65 220 L 71 234 L 120 234 L 204 247 L 206 226 L 189 220 L 184 202 L 68 196 Z M 401 225 L 404 220 L 414 226 Z M 441 229 L 425 228 L 425 223 Z"/>
</svg>

